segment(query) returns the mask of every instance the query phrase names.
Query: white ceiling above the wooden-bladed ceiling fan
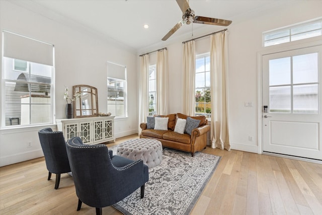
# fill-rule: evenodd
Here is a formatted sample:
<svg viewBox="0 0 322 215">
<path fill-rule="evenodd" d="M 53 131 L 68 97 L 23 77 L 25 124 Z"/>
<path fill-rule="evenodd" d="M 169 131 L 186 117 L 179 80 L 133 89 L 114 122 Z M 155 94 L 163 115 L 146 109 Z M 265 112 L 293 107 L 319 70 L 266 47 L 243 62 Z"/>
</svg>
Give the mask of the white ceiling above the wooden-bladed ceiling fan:
<svg viewBox="0 0 322 215">
<path fill-rule="evenodd" d="M 32 0 L 20 5 L 56 21 L 76 25 L 139 51 L 147 47 L 163 47 L 176 40 L 189 40 L 225 27 L 193 24 L 184 25 L 167 41 L 161 39 L 182 19 L 175 0 Z M 285 1 L 219 1 L 190 0 L 196 15 L 232 20 L 232 24 L 256 17 L 266 9 Z M 149 28 L 144 29 L 143 25 Z M 230 25 L 230 26 L 231 26 Z M 193 28 L 193 29 L 192 29 Z M 229 29 L 229 26 L 227 27 Z M 193 32 L 193 36 L 192 36 Z"/>
</svg>

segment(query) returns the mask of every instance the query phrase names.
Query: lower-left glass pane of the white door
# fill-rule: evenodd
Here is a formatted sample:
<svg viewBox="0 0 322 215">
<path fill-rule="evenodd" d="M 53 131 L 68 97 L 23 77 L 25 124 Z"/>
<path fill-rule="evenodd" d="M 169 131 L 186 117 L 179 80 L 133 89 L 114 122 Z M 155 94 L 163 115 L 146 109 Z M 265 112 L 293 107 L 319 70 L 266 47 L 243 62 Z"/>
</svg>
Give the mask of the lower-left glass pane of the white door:
<svg viewBox="0 0 322 215">
<path fill-rule="evenodd" d="M 270 87 L 270 113 L 291 112 L 291 87 Z"/>
</svg>

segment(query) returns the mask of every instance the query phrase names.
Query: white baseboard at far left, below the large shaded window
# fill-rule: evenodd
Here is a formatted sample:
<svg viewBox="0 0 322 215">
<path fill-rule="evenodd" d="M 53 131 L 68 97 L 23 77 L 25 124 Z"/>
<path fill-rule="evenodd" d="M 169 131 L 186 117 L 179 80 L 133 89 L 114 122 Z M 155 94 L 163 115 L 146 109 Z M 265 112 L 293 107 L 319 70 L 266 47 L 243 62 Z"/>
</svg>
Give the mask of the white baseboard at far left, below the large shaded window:
<svg viewBox="0 0 322 215">
<path fill-rule="evenodd" d="M 4 156 L 0 158 L 0 167 L 23 162 L 23 161 L 28 161 L 35 158 L 40 158 L 43 156 L 44 154 L 41 149 L 23 152 L 23 153 L 17 153 L 10 156 Z"/>
</svg>

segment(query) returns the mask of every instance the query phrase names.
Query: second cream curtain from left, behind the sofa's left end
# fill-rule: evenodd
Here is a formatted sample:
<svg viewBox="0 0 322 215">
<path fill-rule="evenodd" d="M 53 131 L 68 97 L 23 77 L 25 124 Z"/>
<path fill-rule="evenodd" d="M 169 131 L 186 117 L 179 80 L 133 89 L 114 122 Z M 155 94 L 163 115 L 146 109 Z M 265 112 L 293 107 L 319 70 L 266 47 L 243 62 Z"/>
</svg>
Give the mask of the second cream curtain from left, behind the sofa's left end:
<svg viewBox="0 0 322 215">
<path fill-rule="evenodd" d="M 156 58 L 156 112 L 160 115 L 168 114 L 168 50 L 157 51 Z"/>
</svg>

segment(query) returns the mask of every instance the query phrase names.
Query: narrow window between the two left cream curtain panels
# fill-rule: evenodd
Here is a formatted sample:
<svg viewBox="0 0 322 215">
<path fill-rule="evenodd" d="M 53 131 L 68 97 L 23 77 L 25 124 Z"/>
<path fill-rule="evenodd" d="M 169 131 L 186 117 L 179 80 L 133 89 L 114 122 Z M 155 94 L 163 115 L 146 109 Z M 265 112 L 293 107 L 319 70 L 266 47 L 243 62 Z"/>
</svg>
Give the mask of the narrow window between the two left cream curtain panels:
<svg viewBox="0 0 322 215">
<path fill-rule="evenodd" d="M 156 65 L 149 66 L 149 116 L 156 113 Z"/>
</svg>

